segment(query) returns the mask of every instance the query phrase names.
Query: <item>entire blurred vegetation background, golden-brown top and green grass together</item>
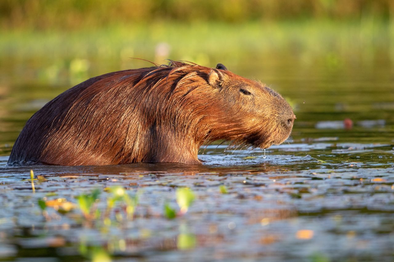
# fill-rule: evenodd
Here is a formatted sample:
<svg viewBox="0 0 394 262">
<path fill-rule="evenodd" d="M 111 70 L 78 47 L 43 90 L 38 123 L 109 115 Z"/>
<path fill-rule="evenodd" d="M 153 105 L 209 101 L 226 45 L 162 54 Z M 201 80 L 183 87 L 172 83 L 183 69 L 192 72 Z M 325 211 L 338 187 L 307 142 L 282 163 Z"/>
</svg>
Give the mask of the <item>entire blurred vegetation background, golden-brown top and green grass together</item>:
<svg viewBox="0 0 394 262">
<path fill-rule="evenodd" d="M 76 82 L 146 65 L 129 57 L 220 62 L 243 74 L 283 61 L 394 61 L 392 0 L 4 0 L 0 15 L 1 74 L 12 82 L 22 72 Z"/>
</svg>

